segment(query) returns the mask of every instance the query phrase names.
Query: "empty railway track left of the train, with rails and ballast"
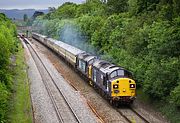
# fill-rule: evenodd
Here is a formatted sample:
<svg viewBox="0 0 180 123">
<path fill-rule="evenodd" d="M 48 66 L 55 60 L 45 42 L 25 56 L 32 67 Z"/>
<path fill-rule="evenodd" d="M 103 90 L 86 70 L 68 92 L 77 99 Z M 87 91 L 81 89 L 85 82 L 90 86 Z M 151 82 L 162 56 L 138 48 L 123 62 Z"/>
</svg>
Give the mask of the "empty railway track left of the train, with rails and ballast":
<svg viewBox="0 0 180 123">
<path fill-rule="evenodd" d="M 53 107 L 54 107 L 54 110 L 56 112 L 59 122 L 60 123 L 64 123 L 64 122 L 81 123 L 81 121 L 78 118 L 78 116 L 76 115 L 74 109 L 68 102 L 66 96 L 61 92 L 61 90 L 56 85 L 55 81 L 53 80 L 53 77 L 51 76 L 50 72 L 46 68 L 41 57 L 38 55 L 38 53 L 33 48 L 31 43 L 26 39 L 25 39 L 25 44 L 28 47 L 28 50 L 30 51 L 31 56 L 33 57 L 36 65 L 37 65 L 40 75 L 42 76 L 44 86 L 48 92 L 50 99 L 51 99 L 51 102 L 53 104 Z M 62 104 L 62 103 L 60 104 L 59 100 L 57 98 L 61 102 L 64 101 L 64 104 Z M 65 106 L 65 104 L 66 104 L 66 106 Z M 60 108 L 60 106 L 62 106 L 62 105 L 64 105 L 64 108 L 66 108 L 66 109 L 63 108 L 63 111 L 61 110 L 62 108 Z M 65 117 L 65 113 L 67 113 L 66 117 Z"/>
</svg>

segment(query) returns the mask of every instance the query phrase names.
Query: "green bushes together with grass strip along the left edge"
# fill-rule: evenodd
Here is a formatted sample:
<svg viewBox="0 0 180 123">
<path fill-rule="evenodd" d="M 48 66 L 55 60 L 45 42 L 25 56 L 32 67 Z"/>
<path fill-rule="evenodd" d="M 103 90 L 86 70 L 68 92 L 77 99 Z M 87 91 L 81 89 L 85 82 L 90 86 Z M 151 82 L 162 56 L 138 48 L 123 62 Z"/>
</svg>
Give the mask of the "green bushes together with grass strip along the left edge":
<svg viewBox="0 0 180 123">
<path fill-rule="evenodd" d="M 18 47 L 19 44 L 16 37 L 15 25 L 4 14 L 0 14 L 1 123 L 31 121 L 29 116 L 29 90 L 28 85 L 24 85 L 24 81 L 27 81 L 27 75 L 24 73 L 23 64 L 20 63 L 20 57 L 23 54 L 21 56 L 18 55 L 18 53 L 22 53 L 22 49 L 19 50 L 20 47 Z M 17 55 L 15 56 L 15 54 Z"/>
</svg>

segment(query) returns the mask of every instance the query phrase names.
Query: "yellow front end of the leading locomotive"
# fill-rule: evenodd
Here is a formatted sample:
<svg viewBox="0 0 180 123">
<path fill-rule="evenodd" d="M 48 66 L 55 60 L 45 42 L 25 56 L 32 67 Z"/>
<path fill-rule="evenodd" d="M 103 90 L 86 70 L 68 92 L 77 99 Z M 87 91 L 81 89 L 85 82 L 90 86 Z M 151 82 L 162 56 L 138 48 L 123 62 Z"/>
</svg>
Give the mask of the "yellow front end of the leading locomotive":
<svg viewBox="0 0 180 123">
<path fill-rule="evenodd" d="M 136 96 L 136 83 L 130 78 L 118 78 L 111 82 L 111 97 L 115 100 L 133 100 Z M 126 100 L 124 100 L 126 101 Z"/>
</svg>

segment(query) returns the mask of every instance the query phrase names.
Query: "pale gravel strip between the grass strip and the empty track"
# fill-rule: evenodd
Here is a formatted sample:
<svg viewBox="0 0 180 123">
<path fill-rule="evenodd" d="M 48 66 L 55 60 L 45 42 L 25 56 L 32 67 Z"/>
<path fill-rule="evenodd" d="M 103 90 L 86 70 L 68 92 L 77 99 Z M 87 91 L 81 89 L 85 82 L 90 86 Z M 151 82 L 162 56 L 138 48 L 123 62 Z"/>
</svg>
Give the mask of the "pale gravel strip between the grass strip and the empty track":
<svg viewBox="0 0 180 123">
<path fill-rule="evenodd" d="M 41 75 L 25 44 L 25 58 L 28 65 L 28 77 L 35 123 L 58 123 L 56 113 L 43 84 Z"/>
</svg>

